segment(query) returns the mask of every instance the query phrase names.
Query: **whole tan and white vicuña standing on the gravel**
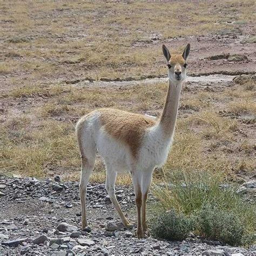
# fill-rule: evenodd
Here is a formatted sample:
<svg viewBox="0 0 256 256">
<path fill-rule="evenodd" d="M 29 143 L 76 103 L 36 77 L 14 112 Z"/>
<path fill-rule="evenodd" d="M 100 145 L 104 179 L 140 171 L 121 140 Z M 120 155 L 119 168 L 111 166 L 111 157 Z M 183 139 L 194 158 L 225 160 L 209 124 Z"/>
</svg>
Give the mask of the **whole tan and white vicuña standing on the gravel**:
<svg viewBox="0 0 256 256">
<path fill-rule="evenodd" d="M 131 173 L 136 194 L 137 237 L 144 237 L 147 229 L 147 193 L 154 168 L 165 163 L 170 150 L 189 51 L 188 44 L 182 55 L 171 56 L 163 45 L 163 53 L 169 68 L 169 89 L 159 120 L 121 110 L 99 109 L 78 121 L 76 131 L 82 157 L 80 197 L 83 228 L 87 226 L 86 187 L 98 151 L 106 165 L 106 190 L 126 227 L 130 226 L 130 223 L 118 204 L 114 183 L 118 172 Z"/>
</svg>

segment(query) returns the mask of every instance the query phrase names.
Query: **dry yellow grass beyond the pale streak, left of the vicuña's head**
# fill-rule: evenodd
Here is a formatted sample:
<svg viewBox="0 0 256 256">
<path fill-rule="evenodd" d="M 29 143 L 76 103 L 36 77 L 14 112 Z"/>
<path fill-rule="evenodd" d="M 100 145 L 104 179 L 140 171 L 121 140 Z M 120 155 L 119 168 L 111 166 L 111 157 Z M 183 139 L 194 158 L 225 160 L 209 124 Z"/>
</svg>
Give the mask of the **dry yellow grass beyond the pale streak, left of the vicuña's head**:
<svg viewBox="0 0 256 256">
<path fill-rule="evenodd" d="M 94 79 L 164 74 L 154 41 L 233 29 L 229 19 L 251 23 L 252 4 L 183 1 L 181 8 L 179 2 L 3 2 L 0 73 L 37 79 L 67 73 Z"/>
</svg>

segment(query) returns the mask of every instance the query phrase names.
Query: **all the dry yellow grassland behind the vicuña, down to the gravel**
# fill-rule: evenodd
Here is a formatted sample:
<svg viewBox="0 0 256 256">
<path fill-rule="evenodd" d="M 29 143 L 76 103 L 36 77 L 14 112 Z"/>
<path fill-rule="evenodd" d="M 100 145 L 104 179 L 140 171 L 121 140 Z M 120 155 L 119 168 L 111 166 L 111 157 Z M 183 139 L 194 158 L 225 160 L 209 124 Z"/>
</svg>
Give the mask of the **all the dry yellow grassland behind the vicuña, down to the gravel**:
<svg viewBox="0 0 256 256">
<path fill-rule="evenodd" d="M 159 116 L 167 83 L 66 82 L 163 75 L 161 41 L 234 29 L 235 24 L 227 25 L 229 19 L 253 21 L 253 1 L 214 2 L 214 8 L 206 1 L 183 2 L 182 11 L 179 2 L 1 2 L 1 170 L 77 179 L 74 125 L 79 117 L 97 107 Z M 256 113 L 254 83 L 249 79 L 212 90 L 188 84 L 169 160 L 155 178 L 166 170 L 191 169 L 250 176 L 255 168 L 253 120 L 242 117 Z M 97 159 L 93 180 L 103 181 L 104 176 Z M 118 183 L 129 182 L 129 177 L 118 178 Z"/>
</svg>

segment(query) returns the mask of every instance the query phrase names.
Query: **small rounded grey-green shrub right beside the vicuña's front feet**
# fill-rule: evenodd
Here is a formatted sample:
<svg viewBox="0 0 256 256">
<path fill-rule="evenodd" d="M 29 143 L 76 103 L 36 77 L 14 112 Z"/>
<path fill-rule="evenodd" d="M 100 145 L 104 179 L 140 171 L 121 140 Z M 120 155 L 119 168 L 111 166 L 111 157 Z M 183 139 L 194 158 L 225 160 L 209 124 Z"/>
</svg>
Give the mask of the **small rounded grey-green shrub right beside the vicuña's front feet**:
<svg viewBox="0 0 256 256">
<path fill-rule="evenodd" d="M 153 237 L 167 240 L 184 240 L 193 230 L 194 219 L 174 210 L 162 212 L 151 221 Z"/>
</svg>

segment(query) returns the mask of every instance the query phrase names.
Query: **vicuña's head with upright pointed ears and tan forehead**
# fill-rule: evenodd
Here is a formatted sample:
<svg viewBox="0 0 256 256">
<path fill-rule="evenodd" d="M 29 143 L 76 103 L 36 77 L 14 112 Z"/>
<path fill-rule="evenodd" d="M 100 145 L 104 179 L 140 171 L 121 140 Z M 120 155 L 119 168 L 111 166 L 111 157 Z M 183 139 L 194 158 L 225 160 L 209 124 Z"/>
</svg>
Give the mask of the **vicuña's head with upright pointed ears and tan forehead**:
<svg viewBox="0 0 256 256">
<path fill-rule="evenodd" d="M 190 44 L 187 44 L 182 55 L 170 55 L 169 50 L 163 44 L 164 57 L 167 60 L 168 76 L 171 82 L 177 83 L 186 77 L 187 56 L 190 53 Z"/>
</svg>

